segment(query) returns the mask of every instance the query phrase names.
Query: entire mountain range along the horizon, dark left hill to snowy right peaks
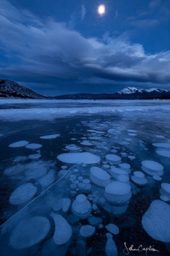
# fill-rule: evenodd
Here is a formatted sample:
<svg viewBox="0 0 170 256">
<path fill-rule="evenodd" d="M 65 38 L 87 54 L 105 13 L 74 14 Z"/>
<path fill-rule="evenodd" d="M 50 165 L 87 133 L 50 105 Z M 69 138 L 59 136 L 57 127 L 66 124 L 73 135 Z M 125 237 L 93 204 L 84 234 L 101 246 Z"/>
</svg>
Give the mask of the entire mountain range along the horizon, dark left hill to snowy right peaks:
<svg viewBox="0 0 170 256">
<path fill-rule="evenodd" d="M 76 93 L 59 96 L 43 96 L 11 80 L 0 80 L 0 98 L 32 98 L 59 100 L 142 100 L 170 99 L 170 90 L 151 88 L 139 89 L 126 86 L 116 93 Z"/>
</svg>

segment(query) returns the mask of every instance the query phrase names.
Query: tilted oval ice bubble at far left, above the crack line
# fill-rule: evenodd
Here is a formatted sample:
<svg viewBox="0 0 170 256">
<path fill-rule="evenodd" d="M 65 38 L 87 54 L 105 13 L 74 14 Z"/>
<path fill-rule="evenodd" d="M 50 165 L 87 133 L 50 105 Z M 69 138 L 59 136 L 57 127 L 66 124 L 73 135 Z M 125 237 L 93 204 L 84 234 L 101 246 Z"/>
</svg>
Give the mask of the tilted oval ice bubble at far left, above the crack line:
<svg viewBox="0 0 170 256">
<path fill-rule="evenodd" d="M 32 183 L 20 185 L 11 193 L 10 203 L 14 205 L 23 204 L 30 200 L 36 192 L 37 188 Z"/>
</svg>

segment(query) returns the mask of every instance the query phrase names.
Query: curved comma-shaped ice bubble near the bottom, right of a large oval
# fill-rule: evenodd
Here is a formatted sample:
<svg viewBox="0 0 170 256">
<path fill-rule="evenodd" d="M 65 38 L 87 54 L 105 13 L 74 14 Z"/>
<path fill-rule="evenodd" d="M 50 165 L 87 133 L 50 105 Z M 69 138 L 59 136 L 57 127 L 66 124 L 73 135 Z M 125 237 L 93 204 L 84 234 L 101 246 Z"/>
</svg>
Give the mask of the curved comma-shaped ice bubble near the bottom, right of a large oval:
<svg viewBox="0 0 170 256">
<path fill-rule="evenodd" d="M 56 213 L 50 213 L 55 223 L 55 232 L 53 240 L 56 245 L 63 245 L 70 240 L 72 236 L 72 230 L 69 223 L 61 215 Z"/>
</svg>

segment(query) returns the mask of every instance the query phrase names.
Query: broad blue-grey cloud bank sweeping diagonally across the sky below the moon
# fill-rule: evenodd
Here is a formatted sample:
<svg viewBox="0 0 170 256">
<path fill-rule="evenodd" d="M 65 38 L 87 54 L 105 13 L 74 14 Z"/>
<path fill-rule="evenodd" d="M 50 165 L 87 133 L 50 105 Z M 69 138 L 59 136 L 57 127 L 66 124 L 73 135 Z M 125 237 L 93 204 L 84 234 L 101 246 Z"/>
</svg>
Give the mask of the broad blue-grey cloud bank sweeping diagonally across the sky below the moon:
<svg viewBox="0 0 170 256">
<path fill-rule="evenodd" d="M 91 77 L 114 82 L 170 81 L 170 51 L 149 55 L 124 36 L 84 38 L 66 23 L 41 20 L 2 0 L 1 77 L 66 86 Z M 146 24 L 146 20 L 144 21 Z M 139 26 L 139 25 L 138 25 Z M 58 85 L 56 85 L 56 83 Z"/>
</svg>

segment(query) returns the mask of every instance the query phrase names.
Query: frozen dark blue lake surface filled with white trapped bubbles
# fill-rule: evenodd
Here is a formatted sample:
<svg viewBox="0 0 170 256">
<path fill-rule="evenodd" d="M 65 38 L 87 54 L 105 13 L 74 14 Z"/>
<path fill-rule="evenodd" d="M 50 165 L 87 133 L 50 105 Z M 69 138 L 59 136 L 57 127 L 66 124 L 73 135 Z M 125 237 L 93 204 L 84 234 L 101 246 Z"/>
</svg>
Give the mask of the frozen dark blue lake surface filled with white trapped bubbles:
<svg viewBox="0 0 170 256">
<path fill-rule="evenodd" d="M 169 255 L 169 116 L 168 100 L 0 100 L 1 255 Z"/>
</svg>

